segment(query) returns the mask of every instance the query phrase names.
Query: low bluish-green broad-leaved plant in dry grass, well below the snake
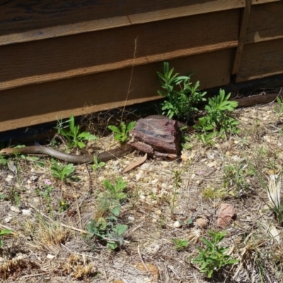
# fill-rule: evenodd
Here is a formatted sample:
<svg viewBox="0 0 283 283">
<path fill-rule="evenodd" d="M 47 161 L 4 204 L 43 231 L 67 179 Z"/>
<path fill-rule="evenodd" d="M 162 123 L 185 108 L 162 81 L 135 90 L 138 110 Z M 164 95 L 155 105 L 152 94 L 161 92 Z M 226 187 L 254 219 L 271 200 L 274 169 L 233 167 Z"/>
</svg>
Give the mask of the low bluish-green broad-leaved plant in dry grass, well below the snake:
<svg viewBox="0 0 283 283">
<path fill-rule="evenodd" d="M 123 233 L 128 226 L 118 224 L 117 216 L 120 214 L 120 207 L 115 207 L 110 211 L 110 215 L 105 218 L 100 217 L 98 221 L 91 220 L 86 226 L 86 230 L 91 234 L 90 238 L 96 236 L 99 240 L 106 241 L 108 248 L 115 250 L 122 245 Z"/>
</svg>

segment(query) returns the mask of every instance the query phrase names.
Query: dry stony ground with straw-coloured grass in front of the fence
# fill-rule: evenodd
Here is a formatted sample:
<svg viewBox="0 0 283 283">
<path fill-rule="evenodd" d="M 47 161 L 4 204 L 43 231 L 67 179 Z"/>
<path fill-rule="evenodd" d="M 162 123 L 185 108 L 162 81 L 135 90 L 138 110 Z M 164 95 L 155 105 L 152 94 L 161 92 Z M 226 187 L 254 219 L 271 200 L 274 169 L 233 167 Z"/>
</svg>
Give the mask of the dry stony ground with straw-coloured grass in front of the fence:
<svg viewBox="0 0 283 283">
<path fill-rule="evenodd" d="M 283 282 L 283 210 L 270 209 L 274 203 L 267 193 L 272 176 L 282 171 L 282 125 L 275 107 L 238 109 L 238 136 L 205 146 L 190 134 L 190 149 L 180 160 L 148 159 L 125 174 L 137 153 L 98 170 L 75 166 L 75 178 L 66 181 L 52 177 L 49 157 L 40 156 L 40 163 L 9 158 L 0 171 L 0 230 L 13 232 L 1 237 L 0 280 Z M 88 126 L 100 139 L 89 141 L 87 151 L 117 146 L 112 134 L 103 137 L 106 124 Z M 118 222 L 129 229 L 122 246 L 110 250 L 105 241 L 87 238 L 86 226 L 103 216 L 103 180 L 115 184 L 120 176 L 127 182 L 127 199 Z M 227 207 L 221 222 L 219 209 Z M 202 237 L 212 240 L 211 229 L 226 231 L 220 246 L 238 263 L 207 279 L 192 259 L 197 247 L 206 248 Z M 178 248 L 181 240 L 187 244 Z"/>
</svg>

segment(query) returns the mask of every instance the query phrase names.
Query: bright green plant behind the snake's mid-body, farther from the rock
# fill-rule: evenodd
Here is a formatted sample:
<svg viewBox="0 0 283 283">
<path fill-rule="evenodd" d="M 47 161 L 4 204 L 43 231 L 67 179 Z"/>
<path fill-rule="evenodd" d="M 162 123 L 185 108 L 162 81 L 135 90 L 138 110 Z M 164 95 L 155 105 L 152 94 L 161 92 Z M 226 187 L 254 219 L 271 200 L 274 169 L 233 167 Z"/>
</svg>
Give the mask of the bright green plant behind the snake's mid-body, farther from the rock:
<svg viewBox="0 0 283 283">
<path fill-rule="evenodd" d="M 67 139 L 67 146 L 69 149 L 72 149 L 74 147 L 79 147 L 80 149 L 83 149 L 83 147 L 86 146 L 83 141 L 97 139 L 97 137 L 91 134 L 90 132 L 79 132 L 80 127 L 79 125 L 75 126 L 74 115 L 71 115 L 69 117 L 69 120 L 66 122 L 69 123 L 69 129 L 66 129 L 68 128 L 68 126 L 64 126 L 65 122 L 59 120 L 55 129 L 57 129 L 58 133 Z"/>
</svg>

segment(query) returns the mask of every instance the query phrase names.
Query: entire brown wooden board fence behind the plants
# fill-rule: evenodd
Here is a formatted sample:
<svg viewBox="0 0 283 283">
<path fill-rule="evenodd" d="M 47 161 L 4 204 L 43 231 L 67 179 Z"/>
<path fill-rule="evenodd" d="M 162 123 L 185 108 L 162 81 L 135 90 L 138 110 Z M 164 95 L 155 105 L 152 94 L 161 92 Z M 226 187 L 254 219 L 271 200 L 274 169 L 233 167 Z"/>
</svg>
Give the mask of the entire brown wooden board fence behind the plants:
<svg viewBox="0 0 283 283">
<path fill-rule="evenodd" d="M 201 88 L 283 74 L 283 1 L 0 4 L 0 131 L 158 98 L 163 61 Z"/>
</svg>

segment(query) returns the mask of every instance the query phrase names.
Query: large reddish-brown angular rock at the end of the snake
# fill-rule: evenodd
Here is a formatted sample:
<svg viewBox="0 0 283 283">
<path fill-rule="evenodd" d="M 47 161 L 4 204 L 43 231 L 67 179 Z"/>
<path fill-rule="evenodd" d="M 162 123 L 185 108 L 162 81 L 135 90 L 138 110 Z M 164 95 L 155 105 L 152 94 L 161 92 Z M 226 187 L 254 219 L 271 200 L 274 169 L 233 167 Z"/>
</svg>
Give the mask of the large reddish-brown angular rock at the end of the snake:
<svg viewBox="0 0 283 283">
<path fill-rule="evenodd" d="M 178 122 L 170 119 L 139 119 L 132 129 L 129 144 L 151 156 L 178 156 L 180 154 L 180 129 Z"/>
</svg>

